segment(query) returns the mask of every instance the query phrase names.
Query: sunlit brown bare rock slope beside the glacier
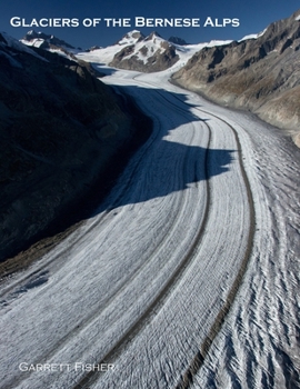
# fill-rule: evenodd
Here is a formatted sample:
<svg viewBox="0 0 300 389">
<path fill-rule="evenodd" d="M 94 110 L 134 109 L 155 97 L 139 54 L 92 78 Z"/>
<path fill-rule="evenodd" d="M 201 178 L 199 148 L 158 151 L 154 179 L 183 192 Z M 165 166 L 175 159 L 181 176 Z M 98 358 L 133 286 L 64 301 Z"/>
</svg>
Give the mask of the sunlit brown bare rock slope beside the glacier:
<svg viewBox="0 0 300 389">
<path fill-rule="evenodd" d="M 250 109 L 292 131 L 300 124 L 300 11 L 271 23 L 257 39 L 204 48 L 173 74 L 211 100 Z M 299 139 L 299 136 L 298 136 Z"/>
</svg>

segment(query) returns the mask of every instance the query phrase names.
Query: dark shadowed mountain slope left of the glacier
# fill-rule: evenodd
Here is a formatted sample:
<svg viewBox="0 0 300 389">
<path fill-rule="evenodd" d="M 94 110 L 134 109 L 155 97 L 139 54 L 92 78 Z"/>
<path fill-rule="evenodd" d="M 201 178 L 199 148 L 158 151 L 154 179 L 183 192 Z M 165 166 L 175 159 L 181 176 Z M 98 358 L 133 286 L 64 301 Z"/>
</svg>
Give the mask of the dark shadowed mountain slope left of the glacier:
<svg viewBox="0 0 300 389">
<path fill-rule="evenodd" d="M 0 260 L 100 197 L 112 159 L 144 138 L 143 118 L 92 72 L 0 34 Z"/>
</svg>

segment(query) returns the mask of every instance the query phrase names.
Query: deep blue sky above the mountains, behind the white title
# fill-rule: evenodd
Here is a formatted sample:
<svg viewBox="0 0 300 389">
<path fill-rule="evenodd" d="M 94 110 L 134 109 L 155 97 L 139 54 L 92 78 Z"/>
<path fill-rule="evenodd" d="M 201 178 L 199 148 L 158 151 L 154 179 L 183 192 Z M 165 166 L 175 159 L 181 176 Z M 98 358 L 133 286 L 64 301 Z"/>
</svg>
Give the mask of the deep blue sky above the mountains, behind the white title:
<svg viewBox="0 0 300 389">
<path fill-rule="evenodd" d="M 300 8 L 299 0 L 7 0 L 1 4 L 0 31 L 20 39 L 34 29 L 51 33 L 83 49 L 91 46 L 109 46 L 126 32 L 136 29 L 134 18 L 200 18 L 200 27 L 137 28 L 144 34 L 157 30 L 163 38 L 177 36 L 189 43 L 212 39 L 241 39 L 262 31 L 270 22 L 289 17 Z M 41 18 L 79 19 L 79 27 L 11 27 L 10 19 L 19 17 L 27 24 Z M 204 20 L 218 18 L 239 19 L 239 27 L 203 27 Z M 83 19 L 101 18 L 97 27 L 83 27 Z M 104 18 L 128 18 L 131 27 L 107 27 Z"/>
</svg>

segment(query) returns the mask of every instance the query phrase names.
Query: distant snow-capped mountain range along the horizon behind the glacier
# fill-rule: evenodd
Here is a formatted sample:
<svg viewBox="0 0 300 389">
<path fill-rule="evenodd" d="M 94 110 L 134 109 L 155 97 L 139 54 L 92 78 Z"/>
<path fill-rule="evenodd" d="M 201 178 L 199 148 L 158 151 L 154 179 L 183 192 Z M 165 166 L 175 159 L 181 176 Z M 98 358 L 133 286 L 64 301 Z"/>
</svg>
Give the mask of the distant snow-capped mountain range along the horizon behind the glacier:
<svg viewBox="0 0 300 389">
<path fill-rule="evenodd" d="M 73 48 L 54 36 L 36 32 L 34 30 L 29 31 L 20 41 L 26 46 L 57 52 L 73 60 L 83 59 L 118 69 L 147 73 L 170 68 L 173 71 L 179 70 L 187 63 L 189 58 L 202 48 L 231 42 L 231 40 L 213 40 L 198 44 L 188 44 L 179 37 L 170 37 L 166 40 L 156 31 L 146 37 L 138 30 L 129 31 L 112 46 L 104 48 L 94 46 L 84 51 Z"/>
</svg>

